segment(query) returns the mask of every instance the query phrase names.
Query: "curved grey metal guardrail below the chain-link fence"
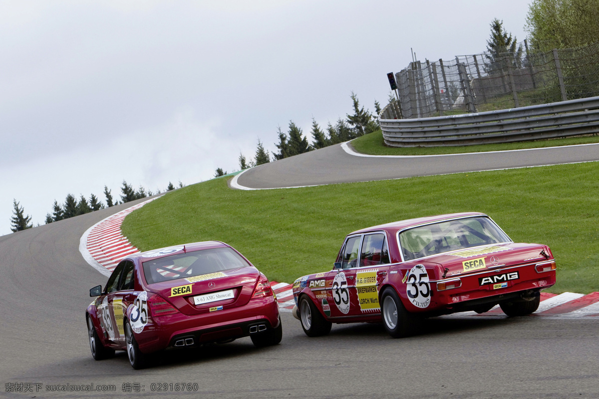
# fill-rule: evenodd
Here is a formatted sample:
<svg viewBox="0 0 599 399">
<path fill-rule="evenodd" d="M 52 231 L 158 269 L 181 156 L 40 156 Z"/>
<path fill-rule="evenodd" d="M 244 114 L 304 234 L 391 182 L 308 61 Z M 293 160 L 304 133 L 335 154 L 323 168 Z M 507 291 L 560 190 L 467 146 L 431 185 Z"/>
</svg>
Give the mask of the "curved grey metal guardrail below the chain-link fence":
<svg viewBox="0 0 599 399">
<path fill-rule="evenodd" d="M 400 119 L 397 101 L 379 116 L 385 144 L 439 147 L 599 133 L 599 96 L 476 114 Z"/>
</svg>

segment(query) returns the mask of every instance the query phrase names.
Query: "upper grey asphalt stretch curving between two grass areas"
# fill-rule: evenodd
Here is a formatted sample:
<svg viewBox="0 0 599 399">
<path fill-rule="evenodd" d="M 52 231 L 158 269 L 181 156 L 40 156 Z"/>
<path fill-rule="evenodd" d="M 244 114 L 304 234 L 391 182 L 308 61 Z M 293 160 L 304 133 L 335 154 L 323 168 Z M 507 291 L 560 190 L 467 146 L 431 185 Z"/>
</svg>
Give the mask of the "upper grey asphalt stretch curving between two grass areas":
<svg viewBox="0 0 599 399">
<path fill-rule="evenodd" d="M 347 154 L 337 144 L 253 167 L 241 174 L 237 182 L 249 188 L 297 187 L 598 160 L 599 143 L 521 151 L 368 158 Z"/>
</svg>

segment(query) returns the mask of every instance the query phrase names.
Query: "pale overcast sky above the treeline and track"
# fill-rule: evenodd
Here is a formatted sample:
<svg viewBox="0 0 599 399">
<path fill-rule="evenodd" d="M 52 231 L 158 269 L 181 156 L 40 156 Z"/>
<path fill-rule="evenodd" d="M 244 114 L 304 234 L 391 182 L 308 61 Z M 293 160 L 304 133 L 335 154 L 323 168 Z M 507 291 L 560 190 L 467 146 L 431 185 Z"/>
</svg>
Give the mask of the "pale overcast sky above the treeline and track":
<svg viewBox="0 0 599 399">
<path fill-rule="evenodd" d="M 521 41 L 528 2 L 4 1 L 0 234 L 13 198 L 43 224 L 66 194 L 123 179 L 163 190 L 239 168 L 277 126 L 309 136 L 374 111 L 387 72 L 485 50 L 497 17 Z"/>
</svg>

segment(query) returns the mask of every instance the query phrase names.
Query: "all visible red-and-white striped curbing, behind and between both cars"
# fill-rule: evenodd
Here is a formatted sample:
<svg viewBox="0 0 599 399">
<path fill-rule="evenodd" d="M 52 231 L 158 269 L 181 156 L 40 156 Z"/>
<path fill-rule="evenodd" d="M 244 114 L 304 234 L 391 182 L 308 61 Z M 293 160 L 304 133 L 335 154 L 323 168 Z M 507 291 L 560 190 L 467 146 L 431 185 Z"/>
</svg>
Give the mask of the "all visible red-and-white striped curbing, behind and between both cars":
<svg viewBox="0 0 599 399">
<path fill-rule="evenodd" d="M 81 236 L 79 251 L 83 258 L 98 272 L 110 276 L 119 261 L 129 254 L 139 252 L 134 245 L 123 236 L 120 226 L 125 217 L 135 209 L 139 209 L 158 197 L 131 206 L 124 211 L 117 212 L 99 221 L 90 227 Z M 292 285 L 286 282 L 271 281 L 271 287 L 276 294 L 281 312 L 291 312 L 295 305 Z M 599 316 L 599 292 L 587 295 L 577 293 L 562 293 L 559 295 L 541 293 L 539 309 L 531 315 L 522 317 L 558 317 L 579 318 Z M 499 306 L 495 306 L 488 312 L 478 314 L 476 312 L 461 312 L 453 315 L 441 316 L 442 318 L 462 317 L 507 317 Z"/>
</svg>

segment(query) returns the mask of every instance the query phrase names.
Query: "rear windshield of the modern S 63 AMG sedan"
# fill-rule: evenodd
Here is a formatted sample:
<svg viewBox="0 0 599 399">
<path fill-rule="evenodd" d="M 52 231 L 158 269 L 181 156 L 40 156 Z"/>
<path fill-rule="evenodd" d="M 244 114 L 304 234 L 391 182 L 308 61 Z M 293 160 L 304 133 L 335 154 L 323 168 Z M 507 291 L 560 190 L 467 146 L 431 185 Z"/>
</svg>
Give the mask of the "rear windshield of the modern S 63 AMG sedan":
<svg viewBox="0 0 599 399">
<path fill-rule="evenodd" d="M 213 248 L 149 260 L 143 266 L 147 284 L 153 284 L 237 269 L 249 264 L 231 248 Z"/>
</svg>

